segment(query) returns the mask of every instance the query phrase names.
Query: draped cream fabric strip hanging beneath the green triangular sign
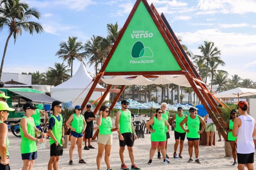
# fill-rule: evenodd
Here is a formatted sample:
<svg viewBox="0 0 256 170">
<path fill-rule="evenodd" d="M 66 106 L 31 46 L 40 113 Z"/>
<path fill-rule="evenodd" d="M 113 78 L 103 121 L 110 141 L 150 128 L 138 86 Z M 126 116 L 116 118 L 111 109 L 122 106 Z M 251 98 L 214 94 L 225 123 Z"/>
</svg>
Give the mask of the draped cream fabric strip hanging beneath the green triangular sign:
<svg viewBox="0 0 256 170">
<path fill-rule="evenodd" d="M 142 75 L 137 76 L 136 78 L 125 78 L 122 76 L 115 76 L 113 78 L 101 78 L 101 80 L 106 84 L 112 85 L 139 85 L 146 86 L 150 84 L 176 84 L 184 87 L 191 87 L 185 75 L 180 75 L 177 77 L 168 77 L 166 75 L 159 75 L 158 78 L 145 78 Z"/>
</svg>

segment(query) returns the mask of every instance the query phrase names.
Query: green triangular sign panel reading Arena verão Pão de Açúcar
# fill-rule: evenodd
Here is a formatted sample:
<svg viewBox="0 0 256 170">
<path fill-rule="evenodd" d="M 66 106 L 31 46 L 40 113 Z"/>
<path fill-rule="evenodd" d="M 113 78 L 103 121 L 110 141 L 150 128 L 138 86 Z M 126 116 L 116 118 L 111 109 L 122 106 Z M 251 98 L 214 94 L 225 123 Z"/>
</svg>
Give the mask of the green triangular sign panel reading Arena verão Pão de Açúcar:
<svg viewBox="0 0 256 170">
<path fill-rule="evenodd" d="M 140 1 L 105 72 L 180 70 L 144 3 Z"/>
</svg>

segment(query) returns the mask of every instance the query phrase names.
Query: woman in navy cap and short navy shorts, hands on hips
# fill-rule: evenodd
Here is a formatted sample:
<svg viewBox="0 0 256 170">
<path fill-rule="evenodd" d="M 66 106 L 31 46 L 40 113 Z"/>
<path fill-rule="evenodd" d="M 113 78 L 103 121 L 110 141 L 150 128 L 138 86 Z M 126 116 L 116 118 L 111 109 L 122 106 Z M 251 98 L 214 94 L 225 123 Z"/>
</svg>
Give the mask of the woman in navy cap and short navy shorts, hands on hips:
<svg viewBox="0 0 256 170">
<path fill-rule="evenodd" d="M 66 126 L 71 129 L 70 138 L 71 138 L 71 146 L 69 148 L 69 165 L 73 165 L 73 151 L 77 142 L 77 151 L 79 156 L 78 163 L 86 163 L 82 159 L 82 143 L 83 143 L 83 132 L 86 128 L 86 122 L 84 116 L 81 115 L 83 108 L 81 106 L 75 106 L 75 113 L 72 114 L 66 122 Z M 69 123 L 72 122 L 71 126 Z"/>
</svg>

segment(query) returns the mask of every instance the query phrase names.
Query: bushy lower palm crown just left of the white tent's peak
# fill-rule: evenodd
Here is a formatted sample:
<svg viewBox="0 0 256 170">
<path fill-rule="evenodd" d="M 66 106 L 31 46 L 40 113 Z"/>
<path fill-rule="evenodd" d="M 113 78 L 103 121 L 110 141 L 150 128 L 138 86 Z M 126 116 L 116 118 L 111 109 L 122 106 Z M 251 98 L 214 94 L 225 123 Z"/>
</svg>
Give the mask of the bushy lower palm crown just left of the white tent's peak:
<svg viewBox="0 0 256 170">
<path fill-rule="evenodd" d="M 67 65 L 65 66 L 64 63 L 54 63 L 54 68 L 49 67 L 49 77 L 55 78 L 53 85 L 57 86 L 64 81 L 67 81 L 71 76 L 68 74 L 70 72 L 70 69 L 67 69 Z"/>
</svg>

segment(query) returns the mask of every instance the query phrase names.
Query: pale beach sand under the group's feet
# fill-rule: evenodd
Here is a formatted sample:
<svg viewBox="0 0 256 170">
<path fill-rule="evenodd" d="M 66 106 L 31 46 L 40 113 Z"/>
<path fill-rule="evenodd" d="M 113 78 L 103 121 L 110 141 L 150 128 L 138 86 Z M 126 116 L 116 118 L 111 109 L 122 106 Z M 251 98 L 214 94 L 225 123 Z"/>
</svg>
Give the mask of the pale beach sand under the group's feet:
<svg viewBox="0 0 256 170">
<path fill-rule="evenodd" d="M 145 130 L 146 131 L 146 130 Z M 10 161 L 11 161 L 11 170 L 22 169 L 22 160 L 20 153 L 20 141 L 21 138 L 15 137 L 11 132 L 8 133 L 10 145 Z M 173 155 L 173 147 L 174 147 L 174 131 L 170 132 L 171 138 L 168 140 L 168 148 L 167 154 L 171 157 Z M 185 139 L 185 145 L 183 149 L 183 159 L 178 159 L 178 162 L 175 162 L 175 159 L 170 158 L 169 161 L 171 164 L 165 166 L 162 162 L 163 159 L 157 159 L 157 152 L 154 155 L 153 164 L 147 165 L 146 163 L 149 160 L 149 149 L 150 149 L 150 134 L 145 134 L 145 138 L 139 138 L 135 141 L 134 144 L 134 156 L 136 165 L 144 170 L 156 170 L 156 169 L 179 169 L 179 170 L 234 170 L 237 169 L 237 166 L 232 166 L 233 158 L 225 157 L 224 151 L 224 141 L 217 142 L 217 146 L 206 147 L 199 146 L 199 159 L 201 164 L 197 164 L 195 162 L 188 163 L 189 155 L 188 155 L 188 145 L 187 140 Z M 73 154 L 73 162 L 74 165 L 68 165 L 69 162 L 69 149 L 64 149 L 63 156 L 60 157 L 59 160 L 59 169 L 62 170 L 78 170 L 78 169 L 88 169 L 88 170 L 96 170 L 96 156 L 97 156 L 97 142 L 92 142 L 92 146 L 96 147 L 96 149 L 83 150 L 83 159 L 87 162 L 87 164 L 79 164 L 78 163 L 78 153 L 77 147 L 74 150 Z M 83 145 L 84 147 L 84 145 Z M 47 140 L 46 148 L 41 149 L 40 145 L 38 145 L 38 158 L 35 160 L 34 170 L 46 170 L 47 164 L 50 158 L 50 147 L 49 140 Z M 179 148 L 177 153 L 179 153 Z M 127 149 L 124 152 L 125 155 L 125 163 L 130 168 L 131 162 L 129 159 L 129 154 Z M 104 155 L 103 155 L 104 156 Z M 256 156 L 255 156 L 256 158 Z M 193 159 L 195 160 L 195 155 L 193 153 Z M 119 141 L 117 132 L 113 133 L 113 145 L 111 150 L 111 167 L 115 170 L 120 169 L 121 161 L 119 158 Z M 255 161 L 256 163 L 256 161 Z M 256 168 L 256 165 L 254 166 Z M 106 164 L 104 162 L 104 157 L 102 160 L 101 169 L 107 169 Z"/>
</svg>

